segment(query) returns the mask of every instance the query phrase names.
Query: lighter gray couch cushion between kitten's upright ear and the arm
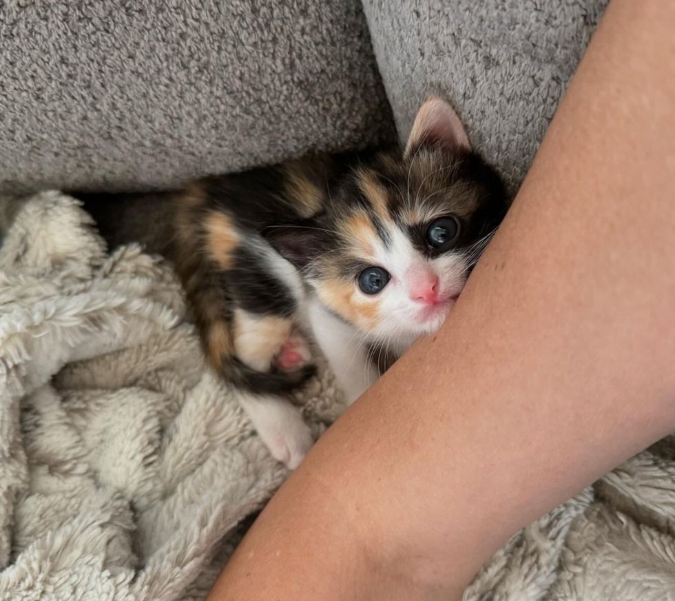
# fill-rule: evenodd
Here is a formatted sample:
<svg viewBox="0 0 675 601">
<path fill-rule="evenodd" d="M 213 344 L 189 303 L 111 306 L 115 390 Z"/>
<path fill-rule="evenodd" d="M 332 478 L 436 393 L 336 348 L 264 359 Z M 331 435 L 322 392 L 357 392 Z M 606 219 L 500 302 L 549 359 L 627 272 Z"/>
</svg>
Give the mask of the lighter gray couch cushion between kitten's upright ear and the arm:
<svg viewBox="0 0 675 601">
<path fill-rule="evenodd" d="M 364 0 L 399 132 L 446 94 L 513 192 L 608 0 Z"/>
</svg>

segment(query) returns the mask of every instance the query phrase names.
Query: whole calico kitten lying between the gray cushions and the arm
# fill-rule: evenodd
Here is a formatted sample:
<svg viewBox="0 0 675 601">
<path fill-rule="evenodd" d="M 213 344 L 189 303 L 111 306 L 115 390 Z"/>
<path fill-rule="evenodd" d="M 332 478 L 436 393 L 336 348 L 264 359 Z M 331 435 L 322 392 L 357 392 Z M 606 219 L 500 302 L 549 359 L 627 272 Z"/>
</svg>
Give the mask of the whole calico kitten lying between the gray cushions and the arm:
<svg viewBox="0 0 675 601">
<path fill-rule="evenodd" d="M 149 202 L 162 199 L 137 196 L 135 210 Z M 115 219 L 151 228 L 134 237 L 174 261 L 211 366 L 292 468 L 313 443 L 282 396 L 312 374 L 305 332 L 355 400 L 379 376 L 373 351 L 398 356 L 442 325 L 507 204 L 457 114 L 433 98 L 403 152 L 308 156 L 192 183 L 160 212 L 173 235 L 124 204 L 102 216 L 104 206 L 88 203 L 116 243 Z"/>
</svg>

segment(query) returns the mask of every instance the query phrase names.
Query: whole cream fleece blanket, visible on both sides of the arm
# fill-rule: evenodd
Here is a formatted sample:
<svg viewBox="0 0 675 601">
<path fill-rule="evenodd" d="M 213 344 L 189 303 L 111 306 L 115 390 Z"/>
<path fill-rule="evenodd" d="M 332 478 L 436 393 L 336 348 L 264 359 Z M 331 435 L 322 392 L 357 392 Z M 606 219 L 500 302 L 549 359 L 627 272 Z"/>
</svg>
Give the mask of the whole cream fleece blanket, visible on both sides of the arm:
<svg viewBox="0 0 675 601">
<path fill-rule="evenodd" d="M 317 429 L 342 409 L 320 373 Z M 170 269 L 32 198 L 0 249 L 0 600 L 202 600 L 284 476 Z M 465 600 L 675 600 L 673 533 L 669 438 L 519 532 Z"/>
</svg>

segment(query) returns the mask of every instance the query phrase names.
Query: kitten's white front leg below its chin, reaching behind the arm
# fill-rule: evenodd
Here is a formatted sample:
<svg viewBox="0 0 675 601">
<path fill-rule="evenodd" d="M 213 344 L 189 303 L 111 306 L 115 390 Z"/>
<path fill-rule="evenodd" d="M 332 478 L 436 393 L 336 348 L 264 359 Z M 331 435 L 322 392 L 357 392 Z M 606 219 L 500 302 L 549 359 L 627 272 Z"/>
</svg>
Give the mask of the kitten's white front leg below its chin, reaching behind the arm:
<svg viewBox="0 0 675 601">
<path fill-rule="evenodd" d="M 329 312 L 315 297 L 307 309 L 314 337 L 351 405 L 380 378 L 377 366 L 368 358 L 364 334 Z"/>
</svg>

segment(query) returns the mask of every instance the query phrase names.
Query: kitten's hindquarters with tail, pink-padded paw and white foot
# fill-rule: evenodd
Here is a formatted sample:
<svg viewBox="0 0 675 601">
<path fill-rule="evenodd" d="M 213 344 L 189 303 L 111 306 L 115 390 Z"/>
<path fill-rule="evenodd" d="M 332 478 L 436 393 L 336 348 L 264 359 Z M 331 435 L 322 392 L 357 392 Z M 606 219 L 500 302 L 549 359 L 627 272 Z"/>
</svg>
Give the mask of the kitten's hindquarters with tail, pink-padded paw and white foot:
<svg viewBox="0 0 675 601">
<path fill-rule="evenodd" d="M 211 367 L 236 388 L 273 457 L 294 469 L 313 444 L 300 411 L 280 396 L 313 373 L 296 325 L 300 277 L 254 232 L 238 230 L 217 210 L 183 215 L 174 258 Z"/>
</svg>

